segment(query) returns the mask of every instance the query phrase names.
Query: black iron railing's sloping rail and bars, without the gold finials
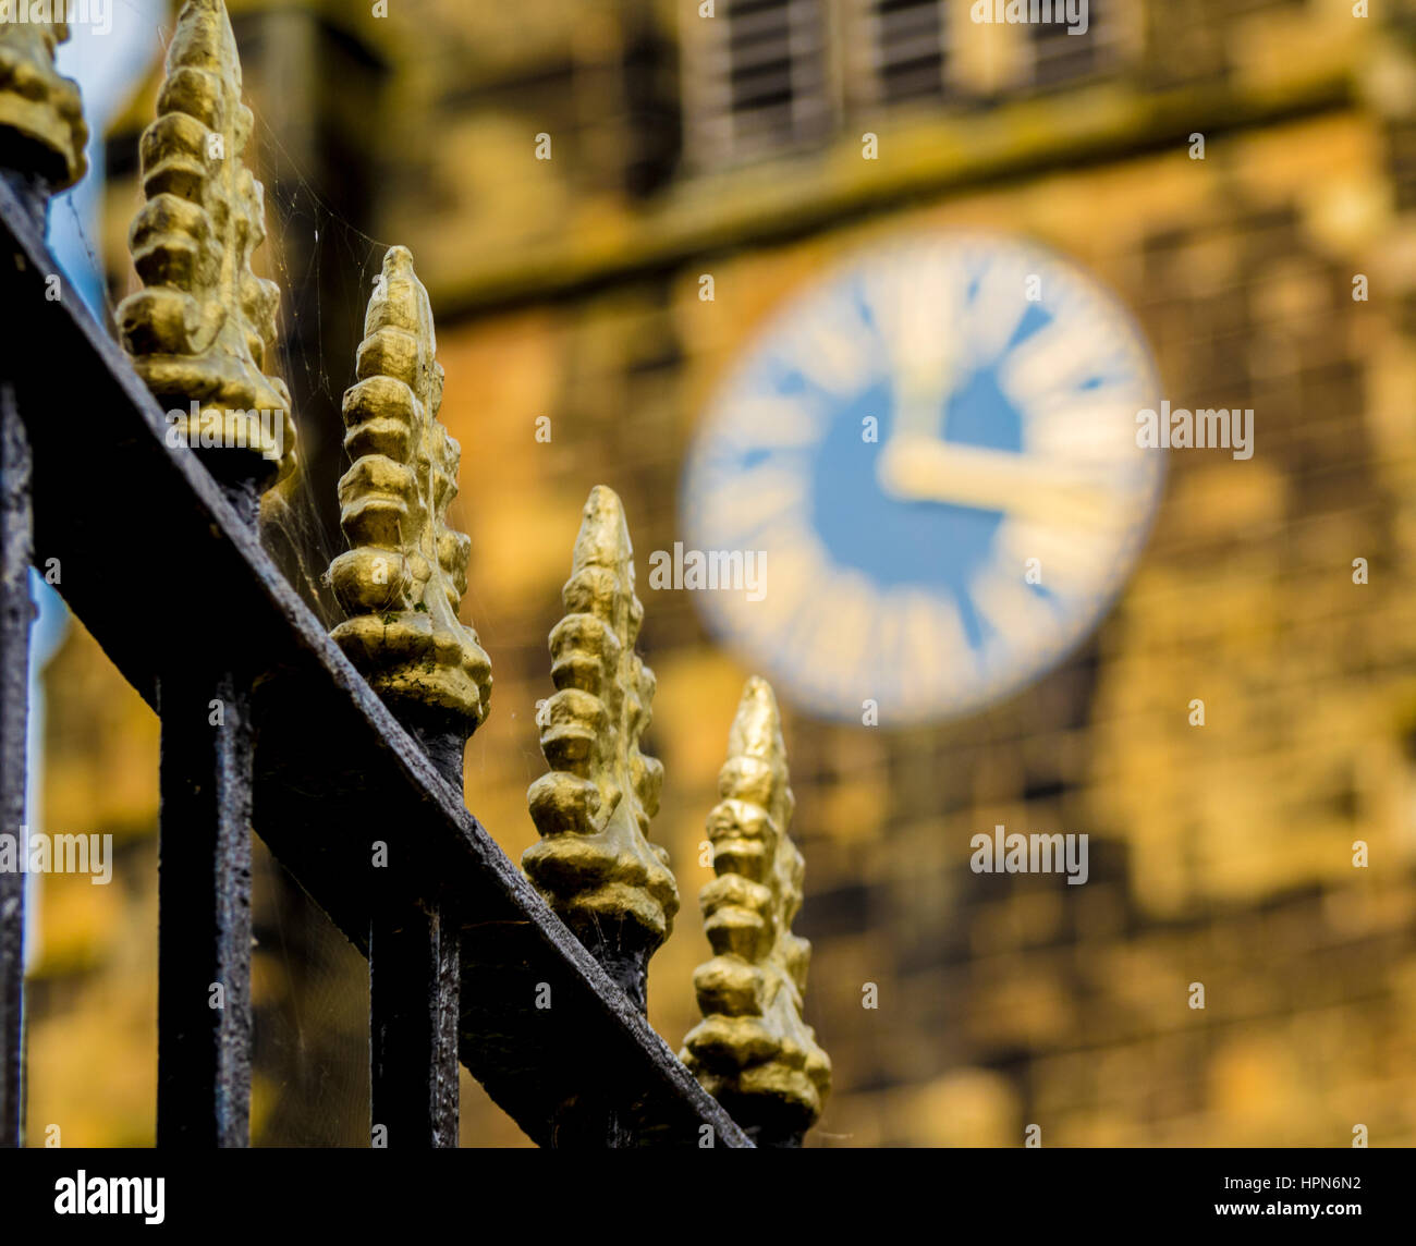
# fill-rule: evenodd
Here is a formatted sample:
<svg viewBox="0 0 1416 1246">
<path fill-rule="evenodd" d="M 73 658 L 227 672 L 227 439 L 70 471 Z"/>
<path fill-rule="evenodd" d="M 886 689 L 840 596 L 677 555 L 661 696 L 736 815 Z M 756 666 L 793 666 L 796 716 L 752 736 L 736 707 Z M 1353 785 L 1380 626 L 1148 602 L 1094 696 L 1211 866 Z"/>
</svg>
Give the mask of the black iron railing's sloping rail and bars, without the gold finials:
<svg viewBox="0 0 1416 1246">
<path fill-rule="evenodd" d="M 460 1059 L 541 1144 L 697 1147 L 707 1127 L 718 1145 L 750 1145 L 467 813 L 246 517 L 195 456 L 164 445 L 159 405 L 48 252 L 44 211 L 42 185 L 6 174 L 0 807 L 7 827 L 24 824 L 27 572 L 58 558 L 69 609 L 164 724 L 159 1144 L 246 1141 L 249 807 L 273 855 L 371 957 L 375 1141 L 456 1144 Z M 59 297 L 45 296 L 50 275 Z M 190 599 L 219 603 L 197 643 L 152 609 L 154 581 L 177 576 Z M 193 732 L 218 695 L 238 724 L 244 707 L 251 716 L 235 733 Z M 374 840 L 398 869 L 370 869 Z M 21 1137 L 23 884 L 0 874 L 6 1144 Z M 227 987 L 224 1010 L 210 983 Z M 555 1007 L 537 1008 L 547 985 Z"/>
</svg>

